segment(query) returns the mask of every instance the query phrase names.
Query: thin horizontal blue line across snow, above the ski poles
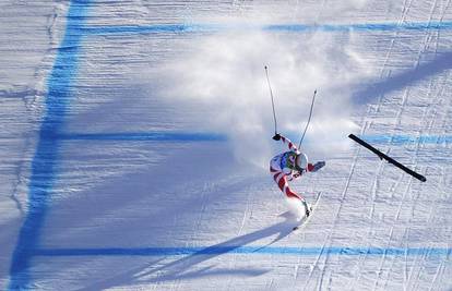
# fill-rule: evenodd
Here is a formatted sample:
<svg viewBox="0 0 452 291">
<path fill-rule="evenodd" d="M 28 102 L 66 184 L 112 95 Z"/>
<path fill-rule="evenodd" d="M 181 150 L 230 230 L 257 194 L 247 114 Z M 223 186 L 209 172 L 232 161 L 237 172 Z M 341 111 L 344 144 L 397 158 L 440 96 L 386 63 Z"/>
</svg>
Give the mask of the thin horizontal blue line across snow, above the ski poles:
<svg viewBox="0 0 452 291">
<path fill-rule="evenodd" d="M 158 24 L 158 25 L 117 25 L 80 27 L 87 35 L 111 34 L 158 34 L 158 33 L 215 33 L 226 31 L 265 32 L 392 32 L 452 29 L 452 22 L 412 22 L 412 23 L 367 23 L 367 24 Z"/>
</svg>

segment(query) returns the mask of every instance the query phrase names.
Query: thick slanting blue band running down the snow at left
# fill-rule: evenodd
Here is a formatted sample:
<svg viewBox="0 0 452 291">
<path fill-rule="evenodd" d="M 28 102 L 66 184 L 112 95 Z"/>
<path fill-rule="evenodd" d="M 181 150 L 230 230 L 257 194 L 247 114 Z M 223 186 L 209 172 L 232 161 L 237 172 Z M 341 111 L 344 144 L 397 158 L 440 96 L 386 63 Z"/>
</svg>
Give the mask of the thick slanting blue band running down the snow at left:
<svg viewBox="0 0 452 291">
<path fill-rule="evenodd" d="M 28 184 L 28 211 L 20 230 L 10 266 L 10 290 L 33 289 L 29 265 L 33 252 L 39 245 L 49 196 L 56 180 L 60 143 L 45 136 L 61 131 L 71 99 L 71 84 L 78 69 L 82 35 L 78 32 L 85 21 L 87 0 L 71 1 L 63 40 L 58 49 L 52 71 L 47 81 L 46 113 L 40 125 L 39 141 L 32 161 Z"/>
</svg>

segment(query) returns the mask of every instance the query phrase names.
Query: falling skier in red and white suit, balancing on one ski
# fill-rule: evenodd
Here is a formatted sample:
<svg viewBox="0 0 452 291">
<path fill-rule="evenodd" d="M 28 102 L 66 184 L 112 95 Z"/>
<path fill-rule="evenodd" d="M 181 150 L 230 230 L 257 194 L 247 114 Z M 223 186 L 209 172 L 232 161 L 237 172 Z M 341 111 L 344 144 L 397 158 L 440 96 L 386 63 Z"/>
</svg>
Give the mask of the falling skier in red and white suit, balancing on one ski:
<svg viewBox="0 0 452 291">
<path fill-rule="evenodd" d="M 306 154 L 301 153 L 294 145 L 294 143 L 290 142 L 290 140 L 282 136 L 278 133 L 273 136 L 273 140 L 283 141 L 283 143 L 288 146 L 289 150 L 272 158 L 270 161 L 270 172 L 273 174 L 273 179 L 279 186 L 281 191 L 289 201 L 295 199 L 297 203 L 299 202 L 302 204 L 305 207 L 306 217 L 308 217 L 312 210 L 311 206 L 308 205 L 305 197 L 290 190 L 288 181 L 298 179 L 305 172 L 317 172 L 319 169 L 325 166 L 325 162 L 318 161 L 314 165 L 308 162 L 308 157 Z M 301 206 L 300 204 L 298 205 Z M 302 217 L 299 217 L 298 219 L 301 218 Z"/>
</svg>

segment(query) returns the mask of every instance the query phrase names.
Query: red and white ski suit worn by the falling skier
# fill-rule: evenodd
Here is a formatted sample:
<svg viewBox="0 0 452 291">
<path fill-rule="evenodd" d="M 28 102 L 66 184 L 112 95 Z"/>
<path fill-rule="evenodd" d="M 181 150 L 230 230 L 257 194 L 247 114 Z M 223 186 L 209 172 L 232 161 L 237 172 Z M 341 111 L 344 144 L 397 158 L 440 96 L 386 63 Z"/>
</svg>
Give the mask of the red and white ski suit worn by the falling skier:
<svg viewBox="0 0 452 291">
<path fill-rule="evenodd" d="M 295 193 L 288 185 L 288 181 L 293 181 L 294 179 L 298 179 L 302 173 L 298 172 L 297 170 L 293 170 L 288 167 L 285 167 L 285 161 L 284 159 L 287 158 L 287 154 L 289 154 L 290 151 L 299 155 L 300 151 L 298 150 L 298 148 L 294 145 L 293 142 L 290 142 L 290 140 L 288 140 L 287 137 L 281 136 L 281 141 L 283 141 L 284 144 L 286 144 L 288 146 L 289 151 L 285 151 L 281 155 L 277 155 L 275 157 L 272 158 L 272 160 L 270 161 L 270 172 L 273 175 L 273 179 L 275 180 L 276 184 L 278 185 L 279 190 L 288 197 L 288 198 L 297 198 L 300 199 L 301 202 L 305 202 L 305 197 L 302 197 L 301 195 Z M 295 161 L 294 161 L 295 163 Z M 308 168 L 306 169 L 307 171 L 312 171 L 313 170 L 313 165 L 312 163 L 308 163 Z"/>
</svg>

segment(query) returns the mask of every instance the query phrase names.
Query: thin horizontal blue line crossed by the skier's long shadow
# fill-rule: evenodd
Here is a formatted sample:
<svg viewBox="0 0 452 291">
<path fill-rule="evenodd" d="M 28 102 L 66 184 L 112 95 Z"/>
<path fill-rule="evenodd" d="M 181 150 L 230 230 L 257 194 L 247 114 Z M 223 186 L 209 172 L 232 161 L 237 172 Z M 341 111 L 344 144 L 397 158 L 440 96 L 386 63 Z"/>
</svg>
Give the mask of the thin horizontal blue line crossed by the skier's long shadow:
<svg viewBox="0 0 452 291">
<path fill-rule="evenodd" d="M 141 248 L 49 248 L 36 250 L 36 256 L 177 256 L 221 254 L 272 254 L 316 256 L 321 254 L 356 256 L 450 256 L 452 248 L 380 248 L 380 247 L 271 247 L 271 246 L 218 246 L 218 247 L 141 247 Z"/>
</svg>

